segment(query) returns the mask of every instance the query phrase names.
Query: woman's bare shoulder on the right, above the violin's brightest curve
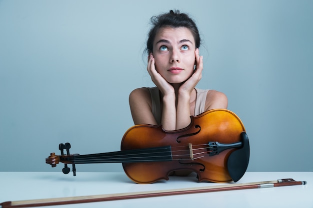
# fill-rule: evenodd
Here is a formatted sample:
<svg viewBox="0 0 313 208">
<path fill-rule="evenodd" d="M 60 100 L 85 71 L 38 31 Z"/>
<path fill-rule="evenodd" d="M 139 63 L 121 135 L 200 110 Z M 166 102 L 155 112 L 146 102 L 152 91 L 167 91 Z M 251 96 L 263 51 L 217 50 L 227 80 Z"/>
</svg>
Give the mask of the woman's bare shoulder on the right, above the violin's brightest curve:
<svg viewBox="0 0 313 208">
<path fill-rule="evenodd" d="M 227 96 L 216 90 L 208 90 L 206 94 L 205 109 L 211 110 L 216 108 L 226 109 L 228 106 Z"/>
</svg>

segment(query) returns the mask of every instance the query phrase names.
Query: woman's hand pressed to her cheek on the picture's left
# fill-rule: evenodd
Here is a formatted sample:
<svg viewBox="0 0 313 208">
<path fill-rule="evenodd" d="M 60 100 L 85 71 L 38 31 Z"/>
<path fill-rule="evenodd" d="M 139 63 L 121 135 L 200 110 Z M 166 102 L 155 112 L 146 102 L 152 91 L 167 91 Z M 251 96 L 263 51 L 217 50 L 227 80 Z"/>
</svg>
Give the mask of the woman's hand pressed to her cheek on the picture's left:
<svg viewBox="0 0 313 208">
<path fill-rule="evenodd" d="M 175 94 L 174 88 L 156 71 L 154 65 L 154 57 L 152 53 L 148 56 L 147 71 L 151 77 L 152 82 L 157 86 L 157 88 L 162 92 L 162 94 Z"/>
</svg>

